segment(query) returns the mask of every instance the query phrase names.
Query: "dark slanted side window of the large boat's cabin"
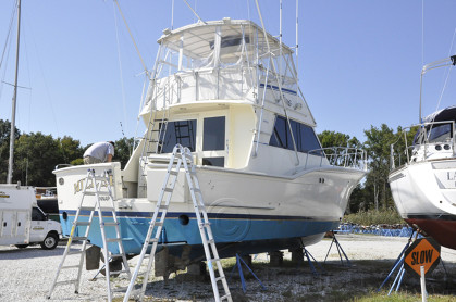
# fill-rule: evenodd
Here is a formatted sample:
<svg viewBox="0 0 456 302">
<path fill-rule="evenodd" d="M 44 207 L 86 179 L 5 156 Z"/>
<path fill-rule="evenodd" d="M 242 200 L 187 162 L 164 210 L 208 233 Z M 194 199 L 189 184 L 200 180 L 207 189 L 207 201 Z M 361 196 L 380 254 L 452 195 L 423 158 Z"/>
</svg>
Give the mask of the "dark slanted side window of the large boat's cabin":
<svg viewBox="0 0 456 302">
<path fill-rule="evenodd" d="M 315 149 L 321 149 L 320 142 L 312 127 L 300 124 L 296 121 L 289 121 L 295 138 L 296 149 L 299 152 L 308 152 Z M 274 130 L 272 131 L 269 146 L 294 150 L 292 133 L 289 131 L 286 117 L 278 115 L 275 118 Z M 322 155 L 321 153 L 318 153 Z"/>
</svg>

